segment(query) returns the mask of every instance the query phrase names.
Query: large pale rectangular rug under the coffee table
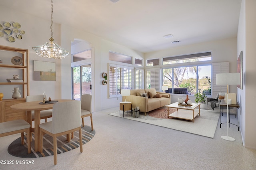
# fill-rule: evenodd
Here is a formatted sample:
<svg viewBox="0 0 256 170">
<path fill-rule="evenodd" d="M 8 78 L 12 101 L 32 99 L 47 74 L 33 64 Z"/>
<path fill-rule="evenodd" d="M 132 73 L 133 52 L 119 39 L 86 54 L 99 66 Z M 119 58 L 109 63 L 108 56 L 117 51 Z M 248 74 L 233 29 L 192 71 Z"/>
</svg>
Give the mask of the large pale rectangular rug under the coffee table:
<svg viewBox="0 0 256 170">
<path fill-rule="evenodd" d="M 220 117 L 220 113 L 217 111 L 208 111 L 200 109 L 200 116 L 197 116 L 194 119 L 194 123 L 192 121 L 187 121 L 184 119 L 176 119 L 167 117 L 167 109 L 156 109 L 154 111 L 148 112 L 145 116 L 144 113 L 140 113 L 140 117 L 134 118 L 131 117 L 130 112 L 124 113 L 125 119 L 130 119 L 133 121 L 139 121 L 143 123 L 148 123 L 151 125 L 157 125 L 160 127 L 171 128 L 174 130 L 180 130 L 183 132 L 188 132 L 192 134 L 198 134 L 201 136 L 206 136 L 209 138 L 213 138 L 216 127 L 218 125 L 218 120 Z M 176 109 L 170 109 L 169 113 L 175 112 Z M 195 113 L 198 113 L 198 110 L 195 109 Z M 192 111 L 191 111 L 192 113 Z M 123 115 L 119 115 L 119 111 L 115 113 L 110 113 L 109 115 L 123 118 Z"/>
</svg>

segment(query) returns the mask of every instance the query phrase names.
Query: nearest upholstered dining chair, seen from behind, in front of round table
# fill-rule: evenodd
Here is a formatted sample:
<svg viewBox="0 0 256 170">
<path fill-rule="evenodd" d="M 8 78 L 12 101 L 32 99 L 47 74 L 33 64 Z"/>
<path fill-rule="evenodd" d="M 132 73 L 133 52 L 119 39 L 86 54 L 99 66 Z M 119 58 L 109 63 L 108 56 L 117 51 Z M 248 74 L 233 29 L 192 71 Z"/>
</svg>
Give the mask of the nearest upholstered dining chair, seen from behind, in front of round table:
<svg viewBox="0 0 256 170">
<path fill-rule="evenodd" d="M 42 123 L 40 127 L 40 147 L 43 152 L 43 135 L 49 134 L 53 137 L 54 165 L 57 164 L 57 136 L 69 135 L 79 130 L 80 152 L 83 152 L 82 130 L 81 130 L 81 101 L 68 101 L 55 103 L 52 108 L 52 121 Z"/>
</svg>

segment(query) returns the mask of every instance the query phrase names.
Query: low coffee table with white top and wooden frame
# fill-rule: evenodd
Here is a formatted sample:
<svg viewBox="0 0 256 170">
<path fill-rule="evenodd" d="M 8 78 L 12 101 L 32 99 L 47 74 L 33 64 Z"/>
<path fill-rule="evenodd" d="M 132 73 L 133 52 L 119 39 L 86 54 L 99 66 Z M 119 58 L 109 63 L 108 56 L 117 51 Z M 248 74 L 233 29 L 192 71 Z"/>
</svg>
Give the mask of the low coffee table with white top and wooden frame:
<svg viewBox="0 0 256 170">
<path fill-rule="evenodd" d="M 185 119 L 194 122 L 194 119 L 197 115 L 200 116 L 200 104 L 201 103 L 192 103 L 192 106 L 179 106 L 178 102 L 166 105 L 168 110 L 168 118 L 175 117 L 178 119 Z M 198 107 L 198 113 L 195 113 L 195 109 Z M 169 115 L 169 108 L 177 109 L 176 112 Z"/>
</svg>

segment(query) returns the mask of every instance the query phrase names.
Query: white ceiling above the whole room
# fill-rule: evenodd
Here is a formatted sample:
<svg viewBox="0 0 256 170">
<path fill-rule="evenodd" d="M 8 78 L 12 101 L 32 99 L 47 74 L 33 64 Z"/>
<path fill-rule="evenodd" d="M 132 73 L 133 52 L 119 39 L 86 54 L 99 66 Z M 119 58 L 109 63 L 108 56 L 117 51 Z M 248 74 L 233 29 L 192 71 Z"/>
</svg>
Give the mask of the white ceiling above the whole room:
<svg viewBox="0 0 256 170">
<path fill-rule="evenodd" d="M 112 1 L 117 0 L 53 0 L 53 22 L 143 53 L 237 35 L 241 0 Z M 51 20 L 50 0 L 0 5 Z M 163 37 L 168 34 L 174 37 Z"/>
</svg>

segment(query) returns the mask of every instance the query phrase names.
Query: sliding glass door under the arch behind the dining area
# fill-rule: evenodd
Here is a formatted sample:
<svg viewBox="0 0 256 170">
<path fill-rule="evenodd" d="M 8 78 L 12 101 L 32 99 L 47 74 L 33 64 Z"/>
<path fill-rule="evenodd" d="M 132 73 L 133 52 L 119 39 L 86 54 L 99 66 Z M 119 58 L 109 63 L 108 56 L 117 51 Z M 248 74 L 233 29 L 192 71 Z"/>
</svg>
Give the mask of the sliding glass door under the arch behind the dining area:
<svg viewBox="0 0 256 170">
<path fill-rule="evenodd" d="M 72 67 L 72 97 L 80 100 L 81 94 L 92 94 L 92 69 L 91 65 Z"/>
</svg>

